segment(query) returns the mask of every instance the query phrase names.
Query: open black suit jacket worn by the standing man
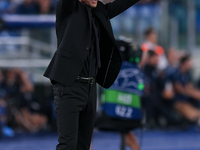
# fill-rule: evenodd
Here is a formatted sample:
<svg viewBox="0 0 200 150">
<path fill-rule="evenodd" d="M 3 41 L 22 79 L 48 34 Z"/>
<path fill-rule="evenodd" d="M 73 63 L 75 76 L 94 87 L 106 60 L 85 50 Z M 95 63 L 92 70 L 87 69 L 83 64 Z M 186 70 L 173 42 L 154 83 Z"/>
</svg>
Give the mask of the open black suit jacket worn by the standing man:
<svg viewBox="0 0 200 150">
<path fill-rule="evenodd" d="M 115 0 L 112 3 L 98 2 L 93 9 L 100 24 L 101 68 L 97 83 L 109 88 L 115 81 L 120 68 L 121 57 L 115 43 L 110 19 L 131 7 L 139 0 Z M 81 73 L 91 46 L 92 13 L 79 0 L 59 0 L 56 9 L 56 50 L 44 76 L 71 85 Z M 64 32 L 63 32 L 64 31 Z"/>
</svg>

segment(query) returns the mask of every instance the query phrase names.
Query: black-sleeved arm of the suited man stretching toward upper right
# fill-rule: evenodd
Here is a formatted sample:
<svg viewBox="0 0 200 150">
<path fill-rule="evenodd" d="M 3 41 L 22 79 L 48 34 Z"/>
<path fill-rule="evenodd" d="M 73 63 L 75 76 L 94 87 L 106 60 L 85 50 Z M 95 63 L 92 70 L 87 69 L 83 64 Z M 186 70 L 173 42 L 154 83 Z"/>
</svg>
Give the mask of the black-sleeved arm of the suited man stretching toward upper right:
<svg viewBox="0 0 200 150">
<path fill-rule="evenodd" d="M 140 0 L 115 0 L 114 2 L 107 3 L 105 5 L 109 18 L 113 18 Z"/>
</svg>

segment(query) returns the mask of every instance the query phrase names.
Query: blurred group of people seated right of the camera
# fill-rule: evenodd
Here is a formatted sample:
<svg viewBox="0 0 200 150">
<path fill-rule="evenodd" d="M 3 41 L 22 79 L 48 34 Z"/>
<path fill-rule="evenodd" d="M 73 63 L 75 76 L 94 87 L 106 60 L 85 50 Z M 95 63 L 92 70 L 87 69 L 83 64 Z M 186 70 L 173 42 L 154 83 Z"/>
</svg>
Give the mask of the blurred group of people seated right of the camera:
<svg viewBox="0 0 200 150">
<path fill-rule="evenodd" d="M 157 44 L 154 28 L 145 31 L 143 96 L 147 124 L 151 127 L 200 125 L 200 84 L 193 84 L 192 58 L 171 48 L 165 53 Z"/>
</svg>

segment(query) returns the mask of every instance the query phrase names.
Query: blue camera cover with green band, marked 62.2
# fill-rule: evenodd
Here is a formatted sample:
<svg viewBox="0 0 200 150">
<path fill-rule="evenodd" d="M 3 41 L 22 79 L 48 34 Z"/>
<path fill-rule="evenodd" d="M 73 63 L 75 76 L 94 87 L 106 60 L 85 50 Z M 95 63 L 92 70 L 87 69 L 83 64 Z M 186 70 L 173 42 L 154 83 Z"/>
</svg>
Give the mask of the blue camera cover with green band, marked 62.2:
<svg viewBox="0 0 200 150">
<path fill-rule="evenodd" d="M 136 64 L 123 62 L 115 83 L 102 94 L 102 111 L 114 118 L 142 119 L 140 97 L 143 89 L 144 74 Z"/>
</svg>

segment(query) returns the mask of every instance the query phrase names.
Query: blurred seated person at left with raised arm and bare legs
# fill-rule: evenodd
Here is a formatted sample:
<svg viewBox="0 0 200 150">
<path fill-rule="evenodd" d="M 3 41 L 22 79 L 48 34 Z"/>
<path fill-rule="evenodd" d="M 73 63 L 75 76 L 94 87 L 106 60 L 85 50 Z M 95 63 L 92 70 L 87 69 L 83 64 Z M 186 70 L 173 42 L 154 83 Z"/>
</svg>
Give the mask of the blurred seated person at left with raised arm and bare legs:
<svg viewBox="0 0 200 150">
<path fill-rule="evenodd" d="M 3 87 L 9 104 L 10 124 L 28 132 L 43 129 L 47 124 L 47 117 L 40 113 L 41 108 L 28 75 L 19 69 L 9 69 L 6 71 Z"/>
</svg>

